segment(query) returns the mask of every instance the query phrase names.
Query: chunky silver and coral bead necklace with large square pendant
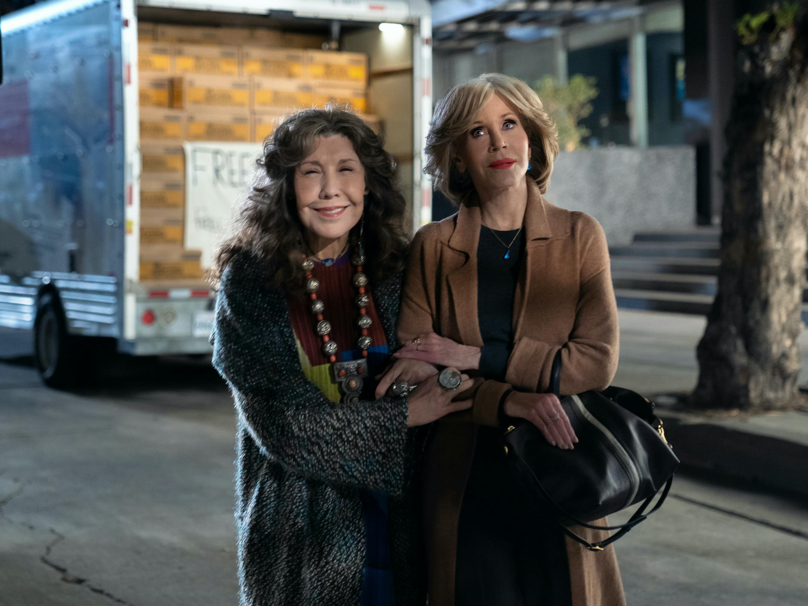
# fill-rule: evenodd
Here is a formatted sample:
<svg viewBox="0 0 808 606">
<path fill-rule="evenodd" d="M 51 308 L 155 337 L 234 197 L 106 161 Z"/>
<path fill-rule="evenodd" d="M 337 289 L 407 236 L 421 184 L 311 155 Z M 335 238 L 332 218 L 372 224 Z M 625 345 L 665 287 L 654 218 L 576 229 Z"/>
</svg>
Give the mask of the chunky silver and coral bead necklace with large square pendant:
<svg viewBox="0 0 808 606">
<path fill-rule="evenodd" d="M 361 360 L 337 361 L 339 345 L 330 337 L 331 323 L 324 316 L 326 305 L 317 296 L 320 281 L 312 275 L 314 259 L 308 257 L 305 253 L 302 256 L 302 267 L 306 275 L 305 291 L 309 293 L 310 299 L 309 311 L 317 319 L 314 330 L 322 339 L 322 355 L 331 363 L 334 380 L 339 383 L 343 391 L 343 402 L 357 402 L 362 392 L 363 379 L 368 376 L 368 348 L 373 343 L 373 339 L 368 335 L 368 328 L 372 324 L 372 319 L 368 315 L 368 305 L 370 305 L 370 297 L 367 292 L 368 276 L 362 271 L 365 262 L 364 248 L 361 243 L 358 244 L 356 252 L 351 257 L 351 263 L 356 267 L 356 273 L 354 273 L 351 282 L 357 291 L 356 299 L 354 299 L 354 304 L 359 309 L 359 315 L 356 317 L 356 326 L 359 328 L 359 338 L 356 339 L 356 346 L 362 350 Z"/>
</svg>

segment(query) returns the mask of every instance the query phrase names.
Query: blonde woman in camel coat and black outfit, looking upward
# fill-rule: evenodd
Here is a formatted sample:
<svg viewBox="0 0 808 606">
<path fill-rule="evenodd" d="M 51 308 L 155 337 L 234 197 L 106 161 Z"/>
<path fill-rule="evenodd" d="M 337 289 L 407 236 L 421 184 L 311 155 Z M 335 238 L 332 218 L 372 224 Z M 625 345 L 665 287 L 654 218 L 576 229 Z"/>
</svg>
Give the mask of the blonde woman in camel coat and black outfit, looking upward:
<svg viewBox="0 0 808 606">
<path fill-rule="evenodd" d="M 589 552 L 532 507 L 500 441 L 509 418 L 521 418 L 574 448 L 558 398 L 545 393 L 557 351 L 562 393 L 604 389 L 617 370 L 603 229 L 542 197 L 558 134 L 516 78 L 483 74 L 449 90 L 427 154 L 427 173 L 460 210 L 415 237 L 398 328 L 407 344 L 380 389 L 410 360 L 482 377 L 472 410 L 437 423 L 427 458 L 430 604 L 625 604 L 612 547 Z"/>
</svg>

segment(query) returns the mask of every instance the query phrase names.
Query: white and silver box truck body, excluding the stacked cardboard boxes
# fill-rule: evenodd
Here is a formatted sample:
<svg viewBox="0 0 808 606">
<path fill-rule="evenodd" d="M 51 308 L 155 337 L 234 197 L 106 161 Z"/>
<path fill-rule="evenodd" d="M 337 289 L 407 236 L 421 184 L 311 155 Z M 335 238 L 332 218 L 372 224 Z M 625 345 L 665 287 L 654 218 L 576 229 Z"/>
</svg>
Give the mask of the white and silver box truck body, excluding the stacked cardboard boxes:
<svg viewBox="0 0 808 606">
<path fill-rule="evenodd" d="M 266 29 L 292 44 L 316 35 L 329 52 L 364 53 L 367 110 L 398 160 L 413 227 L 431 218 L 427 0 L 53 0 L 6 15 L 0 326 L 32 331 L 48 385 L 80 376 L 102 344 L 133 356 L 210 351 L 205 281 L 142 279 L 139 23 Z"/>
</svg>

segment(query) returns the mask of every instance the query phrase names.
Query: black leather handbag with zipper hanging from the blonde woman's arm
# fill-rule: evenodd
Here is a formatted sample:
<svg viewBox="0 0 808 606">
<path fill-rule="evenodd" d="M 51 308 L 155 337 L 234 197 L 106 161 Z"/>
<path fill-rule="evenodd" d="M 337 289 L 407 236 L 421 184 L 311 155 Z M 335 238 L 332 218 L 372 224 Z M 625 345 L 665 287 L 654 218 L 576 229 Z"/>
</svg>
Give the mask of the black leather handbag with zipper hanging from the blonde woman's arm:
<svg viewBox="0 0 808 606">
<path fill-rule="evenodd" d="M 550 381 L 556 396 L 560 378 L 559 351 Z M 639 393 L 609 387 L 559 400 L 578 436 L 575 448 L 549 444 L 536 426 L 520 420 L 503 437 L 508 466 L 528 499 L 553 516 L 567 537 L 602 551 L 662 507 L 679 459 L 654 415 L 654 404 Z M 659 501 L 646 513 L 659 490 Z M 588 524 L 636 503 L 642 505 L 625 524 Z M 619 532 L 590 543 L 570 531 L 571 525 Z"/>
</svg>

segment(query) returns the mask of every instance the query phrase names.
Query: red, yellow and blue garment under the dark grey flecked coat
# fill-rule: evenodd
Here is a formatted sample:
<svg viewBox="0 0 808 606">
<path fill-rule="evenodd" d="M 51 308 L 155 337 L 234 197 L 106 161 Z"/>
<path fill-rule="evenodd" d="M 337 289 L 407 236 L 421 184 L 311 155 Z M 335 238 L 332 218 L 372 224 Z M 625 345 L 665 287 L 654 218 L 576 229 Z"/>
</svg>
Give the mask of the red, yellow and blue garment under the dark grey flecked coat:
<svg viewBox="0 0 808 606">
<path fill-rule="evenodd" d="M 312 275 L 320 282 L 318 298 L 325 305 L 323 316 L 331 323 L 330 337 L 339 345 L 337 360 L 357 360 L 362 351 L 355 349 L 360 332 L 356 326 L 359 313 L 354 299 L 356 287 L 351 283 L 354 267 L 351 265 L 350 251 L 326 267 L 315 263 Z M 367 313 L 372 320 L 368 335 L 373 339 L 368 350 L 368 380 L 364 381 L 360 400 L 375 399 L 376 382 L 372 377 L 382 372 L 389 363 L 389 347 L 382 329 L 372 292 L 368 288 L 371 302 Z M 342 393 L 331 374 L 331 364 L 322 353 L 322 340 L 314 330 L 316 319 L 309 312 L 309 298 L 301 295 L 288 297 L 289 317 L 292 321 L 297 354 L 305 376 L 317 385 L 332 402 L 339 402 Z M 390 566 L 388 498 L 387 494 L 375 490 L 362 491 L 362 505 L 365 521 L 366 558 L 362 606 L 393 606 L 393 572 Z"/>
</svg>

